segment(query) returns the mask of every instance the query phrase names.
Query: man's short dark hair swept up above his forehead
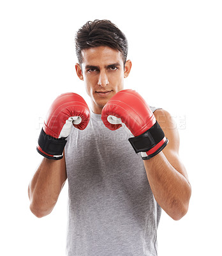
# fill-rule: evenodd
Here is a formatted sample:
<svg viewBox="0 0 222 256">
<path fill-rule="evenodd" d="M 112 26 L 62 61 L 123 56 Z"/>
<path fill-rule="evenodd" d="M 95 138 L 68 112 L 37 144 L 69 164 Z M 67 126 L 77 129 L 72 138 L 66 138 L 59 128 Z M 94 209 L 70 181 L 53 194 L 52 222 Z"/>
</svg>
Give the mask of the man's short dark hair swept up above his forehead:
<svg viewBox="0 0 222 256">
<path fill-rule="evenodd" d="M 122 53 L 125 65 L 128 54 L 128 42 L 122 31 L 110 20 L 88 21 L 78 29 L 75 36 L 75 51 L 78 62 L 82 64 L 82 50 L 91 47 L 108 46 Z"/>
</svg>

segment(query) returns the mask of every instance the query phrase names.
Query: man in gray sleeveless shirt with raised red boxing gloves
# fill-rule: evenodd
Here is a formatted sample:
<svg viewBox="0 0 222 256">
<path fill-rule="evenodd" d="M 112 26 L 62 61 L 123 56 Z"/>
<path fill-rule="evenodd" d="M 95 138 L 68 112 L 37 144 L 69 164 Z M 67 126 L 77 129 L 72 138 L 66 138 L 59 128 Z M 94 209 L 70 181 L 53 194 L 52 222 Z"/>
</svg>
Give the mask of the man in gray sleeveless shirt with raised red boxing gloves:
<svg viewBox="0 0 222 256">
<path fill-rule="evenodd" d="M 30 209 L 49 214 L 68 179 L 67 255 L 157 255 L 161 209 L 179 220 L 191 196 L 174 121 L 123 90 L 131 61 L 112 22 L 87 22 L 76 51 L 91 111 L 76 93 L 53 102 L 38 140 L 44 158 L 29 184 Z"/>
</svg>

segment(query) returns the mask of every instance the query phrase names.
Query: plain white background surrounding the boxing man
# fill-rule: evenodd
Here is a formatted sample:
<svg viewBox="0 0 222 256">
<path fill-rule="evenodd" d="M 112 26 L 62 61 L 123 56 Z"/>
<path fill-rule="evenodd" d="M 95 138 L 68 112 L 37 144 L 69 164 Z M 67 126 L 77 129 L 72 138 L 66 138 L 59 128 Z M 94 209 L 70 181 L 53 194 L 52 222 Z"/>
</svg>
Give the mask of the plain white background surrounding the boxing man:
<svg viewBox="0 0 222 256">
<path fill-rule="evenodd" d="M 41 219 L 29 211 L 27 186 L 52 100 L 77 92 L 89 102 L 75 74 L 74 37 L 94 19 L 126 34 L 133 67 L 125 88 L 168 110 L 181 136 L 191 202 L 180 221 L 163 212 L 159 256 L 222 255 L 221 13 L 214 0 L 1 1 L 1 255 L 64 255 L 67 184 Z"/>
</svg>

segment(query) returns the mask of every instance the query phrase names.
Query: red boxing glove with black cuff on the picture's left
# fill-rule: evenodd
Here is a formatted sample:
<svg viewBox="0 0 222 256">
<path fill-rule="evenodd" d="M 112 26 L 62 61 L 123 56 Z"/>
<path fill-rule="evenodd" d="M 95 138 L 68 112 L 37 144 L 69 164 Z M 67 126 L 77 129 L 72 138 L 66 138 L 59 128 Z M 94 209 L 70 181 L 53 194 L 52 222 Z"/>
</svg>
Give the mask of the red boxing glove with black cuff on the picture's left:
<svg viewBox="0 0 222 256">
<path fill-rule="evenodd" d="M 84 130 L 89 123 L 90 111 L 85 100 L 77 93 L 64 93 L 54 100 L 38 138 L 37 151 L 48 159 L 63 158 L 66 138 L 71 125 Z"/>
</svg>

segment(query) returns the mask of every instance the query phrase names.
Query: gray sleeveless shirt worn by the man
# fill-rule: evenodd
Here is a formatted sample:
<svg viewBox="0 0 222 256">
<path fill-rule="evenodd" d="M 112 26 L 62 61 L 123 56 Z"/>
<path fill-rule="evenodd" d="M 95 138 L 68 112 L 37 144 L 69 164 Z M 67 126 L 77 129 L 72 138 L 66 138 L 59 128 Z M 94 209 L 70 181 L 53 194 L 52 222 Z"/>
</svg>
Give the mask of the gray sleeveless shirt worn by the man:
<svg viewBox="0 0 222 256">
<path fill-rule="evenodd" d="M 110 131 L 93 112 L 84 131 L 72 128 L 65 147 L 66 255 L 158 255 L 161 207 L 129 137 L 123 127 Z"/>
</svg>

